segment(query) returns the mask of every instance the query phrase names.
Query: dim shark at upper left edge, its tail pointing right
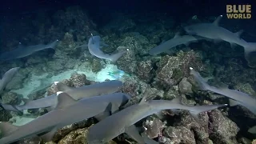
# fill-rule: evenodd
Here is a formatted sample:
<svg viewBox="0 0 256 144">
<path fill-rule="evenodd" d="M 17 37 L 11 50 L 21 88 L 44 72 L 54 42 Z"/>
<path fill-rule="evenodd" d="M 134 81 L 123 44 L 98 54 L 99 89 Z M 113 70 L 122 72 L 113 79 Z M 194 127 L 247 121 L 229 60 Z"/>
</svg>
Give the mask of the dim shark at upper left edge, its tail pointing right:
<svg viewBox="0 0 256 144">
<path fill-rule="evenodd" d="M 46 45 L 39 44 L 34 46 L 22 46 L 20 44 L 18 48 L 0 54 L 0 61 L 4 62 L 12 59 L 24 58 L 39 50 L 54 49 L 57 44 L 58 44 L 58 40 L 54 42 L 50 42 L 49 44 L 46 44 Z"/>
</svg>

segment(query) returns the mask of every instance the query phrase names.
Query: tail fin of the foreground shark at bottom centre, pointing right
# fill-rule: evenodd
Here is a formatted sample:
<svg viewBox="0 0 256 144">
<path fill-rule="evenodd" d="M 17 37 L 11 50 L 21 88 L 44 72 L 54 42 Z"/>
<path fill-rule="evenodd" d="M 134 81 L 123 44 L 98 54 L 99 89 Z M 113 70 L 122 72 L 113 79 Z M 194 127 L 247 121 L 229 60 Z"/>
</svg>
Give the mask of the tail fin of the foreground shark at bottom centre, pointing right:
<svg viewBox="0 0 256 144">
<path fill-rule="evenodd" d="M 191 106 L 190 114 L 197 121 L 200 122 L 198 115 L 205 111 L 210 111 L 214 109 L 218 109 L 219 107 L 227 106 L 227 104 L 223 105 L 208 105 L 208 106 Z"/>
</svg>

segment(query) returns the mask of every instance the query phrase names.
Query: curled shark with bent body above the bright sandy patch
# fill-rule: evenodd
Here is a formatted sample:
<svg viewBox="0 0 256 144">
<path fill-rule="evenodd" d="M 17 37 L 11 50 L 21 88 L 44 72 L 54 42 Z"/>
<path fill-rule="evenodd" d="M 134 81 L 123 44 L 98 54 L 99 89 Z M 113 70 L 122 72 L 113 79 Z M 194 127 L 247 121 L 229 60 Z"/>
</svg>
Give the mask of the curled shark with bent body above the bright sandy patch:
<svg viewBox="0 0 256 144">
<path fill-rule="evenodd" d="M 90 51 L 90 54 L 96 56 L 97 58 L 103 58 L 103 59 L 107 59 L 110 60 L 111 62 L 116 62 L 118 60 L 118 58 L 121 58 L 123 54 L 126 54 L 127 50 L 122 50 L 120 52 L 118 52 L 117 54 L 104 54 L 101 50 L 101 44 L 103 42 L 101 42 L 101 37 L 96 35 L 93 36 L 91 34 L 91 37 L 89 39 L 88 42 L 88 49 Z"/>
</svg>

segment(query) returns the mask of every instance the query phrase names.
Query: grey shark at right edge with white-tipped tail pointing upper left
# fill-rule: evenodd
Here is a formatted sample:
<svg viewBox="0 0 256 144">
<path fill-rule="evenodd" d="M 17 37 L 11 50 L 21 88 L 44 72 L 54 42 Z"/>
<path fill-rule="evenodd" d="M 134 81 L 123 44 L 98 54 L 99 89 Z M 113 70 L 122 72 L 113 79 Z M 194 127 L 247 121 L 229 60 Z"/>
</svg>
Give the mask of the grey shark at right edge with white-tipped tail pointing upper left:
<svg viewBox="0 0 256 144">
<path fill-rule="evenodd" d="M 193 75 L 196 82 L 198 82 L 198 86 L 200 86 L 201 90 L 209 90 L 216 94 L 224 95 L 230 98 L 230 106 L 242 105 L 245 106 L 252 113 L 256 114 L 256 98 L 253 98 L 249 94 L 242 93 L 238 90 L 230 90 L 228 88 L 217 88 L 214 86 L 209 86 L 204 78 L 195 71 L 192 67 L 190 67 L 190 74 Z"/>
</svg>

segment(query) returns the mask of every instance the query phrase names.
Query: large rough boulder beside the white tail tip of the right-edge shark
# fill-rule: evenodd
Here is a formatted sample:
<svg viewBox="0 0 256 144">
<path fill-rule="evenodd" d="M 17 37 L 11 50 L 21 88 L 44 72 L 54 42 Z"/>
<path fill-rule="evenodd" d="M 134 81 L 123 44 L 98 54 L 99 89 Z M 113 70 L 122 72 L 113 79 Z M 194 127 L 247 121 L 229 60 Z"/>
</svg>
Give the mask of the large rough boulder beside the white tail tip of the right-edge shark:
<svg viewBox="0 0 256 144">
<path fill-rule="evenodd" d="M 184 76 L 189 76 L 189 67 L 195 70 L 202 67 L 202 62 L 197 53 L 193 50 L 189 52 L 179 52 L 178 56 L 166 55 L 157 63 L 156 79 L 154 85 L 163 88 L 177 85 Z"/>
</svg>

